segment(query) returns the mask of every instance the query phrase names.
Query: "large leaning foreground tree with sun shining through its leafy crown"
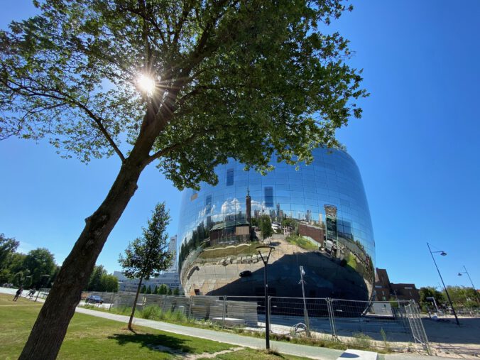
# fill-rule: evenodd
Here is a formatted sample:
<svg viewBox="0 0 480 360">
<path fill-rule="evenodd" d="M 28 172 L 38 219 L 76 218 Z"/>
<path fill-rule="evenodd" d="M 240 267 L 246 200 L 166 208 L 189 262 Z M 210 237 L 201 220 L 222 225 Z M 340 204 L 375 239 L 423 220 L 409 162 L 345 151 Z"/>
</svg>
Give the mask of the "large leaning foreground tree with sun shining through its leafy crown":
<svg viewBox="0 0 480 360">
<path fill-rule="evenodd" d="M 38 1 L 36 1 L 38 4 Z M 53 359 L 95 261 L 154 161 L 174 185 L 217 182 L 228 158 L 261 172 L 311 161 L 360 117 L 348 40 L 322 33 L 342 0 L 44 0 L 0 32 L 0 138 L 61 156 L 117 156 L 119 173 L 58 274 L 21 359 Z M 148 85 L 148 86 L 146 86 Z M 121 143 L 125 140 L 125 143 Z"/>
</svg>

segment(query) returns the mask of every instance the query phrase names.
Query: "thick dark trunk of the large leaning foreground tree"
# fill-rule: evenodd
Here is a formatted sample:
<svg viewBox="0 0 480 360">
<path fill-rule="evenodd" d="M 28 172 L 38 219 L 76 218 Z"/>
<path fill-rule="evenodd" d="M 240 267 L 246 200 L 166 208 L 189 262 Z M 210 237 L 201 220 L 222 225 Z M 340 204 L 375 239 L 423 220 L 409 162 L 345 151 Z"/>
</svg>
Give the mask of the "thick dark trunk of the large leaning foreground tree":
<svg viewBox="0 0 480 360">
<path fill-rule="evenodd" d="M 144 143 L 142 145 L 139 148 L 143 149 L 136 154 L 135 150 L 132 151 L 131 156 L 124 160 L 104 202 L 91 217 L 85 219 L 82 234 L 63 262 L 19 359 L 50 360 L 57 357 L 99 253 L 136 191 L 138 178 L 145 168 L 143 160 L 151 148 Z"/>
</svg>

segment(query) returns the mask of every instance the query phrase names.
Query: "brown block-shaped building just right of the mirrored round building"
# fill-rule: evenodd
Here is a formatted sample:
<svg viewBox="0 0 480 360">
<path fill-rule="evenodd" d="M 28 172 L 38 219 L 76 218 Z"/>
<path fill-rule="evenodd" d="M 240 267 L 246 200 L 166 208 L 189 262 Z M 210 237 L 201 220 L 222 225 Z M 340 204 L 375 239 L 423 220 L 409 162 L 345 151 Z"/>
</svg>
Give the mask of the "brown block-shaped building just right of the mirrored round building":
<svg viewBox="0 0 480 360">
<path fill-rule="evenodd" d="M 375 271 L 376 300 L 415 300 L 420 302 L 420 293 L 415 284 L 394 284 L 390 282 L 386 269 L 376 268 Z"/>
</svg>

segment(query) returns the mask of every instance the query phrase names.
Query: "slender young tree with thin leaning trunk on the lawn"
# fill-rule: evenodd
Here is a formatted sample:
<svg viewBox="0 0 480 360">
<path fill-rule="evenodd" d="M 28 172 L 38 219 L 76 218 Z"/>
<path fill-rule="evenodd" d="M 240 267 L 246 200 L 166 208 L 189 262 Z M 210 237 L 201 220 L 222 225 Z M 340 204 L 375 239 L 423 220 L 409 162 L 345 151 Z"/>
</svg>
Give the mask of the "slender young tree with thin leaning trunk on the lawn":
<svg viewBox="0 0 480 360">
<path fill-rule="evenodd" d="M 168 251 L 167 244 L 168 234 L 165 231 L 169 223 L 170 215 L 165 209 L 165 203 L 156 204 L 151 219 L 148 219 L 148 226 L 143 228 L 143 238 L 137 238 L 129 244 L 125 257 L 120 255 L 119 263 L 124 269 L 125 276 L 139 279 L 129 320 L 130 330 L 133 330 L 131 322 L 135 315 L 142 280 L 148 280 L 154 273 L 166 270 L 172 263 L 172 254 Z M 150 285 L 146 293 L 152 293 Z"/>
</svg>

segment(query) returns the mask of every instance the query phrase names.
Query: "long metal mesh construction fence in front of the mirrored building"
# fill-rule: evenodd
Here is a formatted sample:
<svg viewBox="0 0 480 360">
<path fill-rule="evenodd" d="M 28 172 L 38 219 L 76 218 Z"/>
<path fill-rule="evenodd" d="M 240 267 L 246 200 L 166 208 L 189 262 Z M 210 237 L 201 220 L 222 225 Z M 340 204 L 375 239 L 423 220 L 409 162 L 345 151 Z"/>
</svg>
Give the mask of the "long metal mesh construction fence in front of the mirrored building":
<svg viewBox="0 0 480 360">
<path fill-rule="evenodd" d="M 84 293 L 102 298 L 106 309 L 131 308 L 135 293 Z M 87 301 L 85 301 L 87 302 Z M 237 332 L 265 332 L 266 311 L 274 336 L 359 347 L 411 349 L 430 354 L 420 309 L 413 301 L 367 302 L 331 298 L 192 296 L 140 294 L 137 316 L 153 307 L 156 313 L 181 313 L 187 321 L 208 322 Z M 146 315 L 148 316 L 148 315 Z"/>
</svg>

